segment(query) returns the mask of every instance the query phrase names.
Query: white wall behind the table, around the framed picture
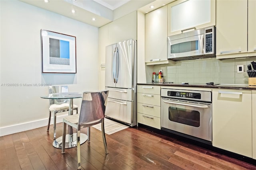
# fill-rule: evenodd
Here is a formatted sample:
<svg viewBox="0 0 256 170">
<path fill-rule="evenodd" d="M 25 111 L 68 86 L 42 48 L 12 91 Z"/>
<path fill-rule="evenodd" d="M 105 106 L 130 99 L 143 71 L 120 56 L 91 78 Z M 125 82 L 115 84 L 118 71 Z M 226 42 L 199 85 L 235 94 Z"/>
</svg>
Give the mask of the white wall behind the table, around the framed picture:
<svg viewBox="0 0 256 170">
<path fill-rule="evenodd" d="M 47 86 L 98 90 L 98 28 L 17 0 L 0 1 L 0 136 L 47 125 Z M 40 29 L 76 36 L 76 74 L 41 73 Z M 18 86 L 4 86 L 17 83 Z M 74 99 L 79 106 L 81 99 Z M 67 113 L 65 113 L 67 114 Z M 61 117 L 59 117 L 61 121 Z"/>
</svg>

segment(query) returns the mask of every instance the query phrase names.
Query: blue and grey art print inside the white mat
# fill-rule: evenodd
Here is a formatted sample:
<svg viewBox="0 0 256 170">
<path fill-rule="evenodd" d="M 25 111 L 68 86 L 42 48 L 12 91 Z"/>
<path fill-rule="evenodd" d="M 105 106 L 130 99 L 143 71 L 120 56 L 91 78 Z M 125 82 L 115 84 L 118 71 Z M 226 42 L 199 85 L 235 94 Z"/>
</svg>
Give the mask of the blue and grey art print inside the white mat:
<svg viewBox="0 0 256 170">
<path fill-rule="evenodd" d="M 49 38 L 50 64 L 70 65 L 69 41 Z"/>
</svg>

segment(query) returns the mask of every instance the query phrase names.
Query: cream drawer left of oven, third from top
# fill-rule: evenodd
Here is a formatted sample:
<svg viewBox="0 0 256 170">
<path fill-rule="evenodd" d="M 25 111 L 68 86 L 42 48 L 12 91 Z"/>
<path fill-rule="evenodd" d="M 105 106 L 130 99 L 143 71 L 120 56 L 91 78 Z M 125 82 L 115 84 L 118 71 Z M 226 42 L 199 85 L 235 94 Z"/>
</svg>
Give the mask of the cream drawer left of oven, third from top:
<svg viewBox="0 0 256 170">
<path fill-rule="evenodd" d="M 154 117 L 160 117 L 161 107 L 154 106 L 150 104 L 137 103 L 137 111 L 139 113 L 146 113 L 147 115 L 151 115 Z"/>
</svg>

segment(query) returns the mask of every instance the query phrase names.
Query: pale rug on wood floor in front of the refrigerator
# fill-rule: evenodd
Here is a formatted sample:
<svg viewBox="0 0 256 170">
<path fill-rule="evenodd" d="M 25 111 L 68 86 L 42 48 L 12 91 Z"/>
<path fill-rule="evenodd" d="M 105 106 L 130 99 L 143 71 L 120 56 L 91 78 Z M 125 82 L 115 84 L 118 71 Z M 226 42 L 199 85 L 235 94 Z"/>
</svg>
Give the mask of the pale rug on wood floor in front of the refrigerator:
<svg viewBox="0 0 256 170">
<path fill-rule="evenodd" d="M 101 123 L 99 123 L 97 125 L 93 125 L 92 127 L 101 131 Z M 116 133 L 118 131 L 126 129 L 129 126 L 126 126 L 126 125 L 123 125 L 122 123 L 118 123 L 118 122 L 115 122 L 115 121 L 105 118 L 104 119 L 104 127 L 105 127 L 105 133 L 108 135 L 111 135 L 113 133 Z"/>
</svg>

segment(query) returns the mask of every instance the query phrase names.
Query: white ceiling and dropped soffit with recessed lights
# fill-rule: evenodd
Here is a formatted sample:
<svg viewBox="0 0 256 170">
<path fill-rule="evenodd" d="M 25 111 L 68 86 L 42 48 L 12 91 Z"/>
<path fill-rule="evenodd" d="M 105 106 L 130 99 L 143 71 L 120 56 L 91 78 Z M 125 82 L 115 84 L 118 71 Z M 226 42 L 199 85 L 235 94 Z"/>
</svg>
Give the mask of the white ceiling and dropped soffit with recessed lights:
<svg viewBox="0 0 256 170">
<path fill-rule="evenodd" d="M 135 10 L 145 14 L 174 0 L 49 0 L 47 3 L 44 0 L 20 1 L 95 27 L 101 27 Z M 149 8 L 150 5 L 154 5 L 155 8 Z M 72 13 L 72 10 L 75 12 Z"/>
</svg>

